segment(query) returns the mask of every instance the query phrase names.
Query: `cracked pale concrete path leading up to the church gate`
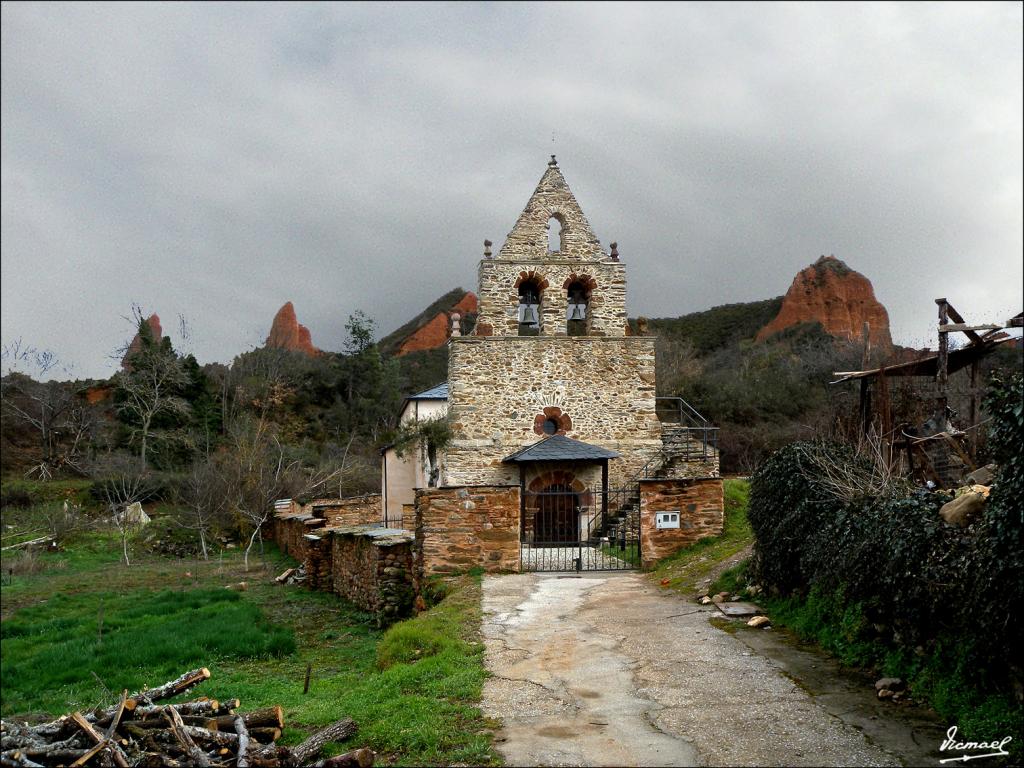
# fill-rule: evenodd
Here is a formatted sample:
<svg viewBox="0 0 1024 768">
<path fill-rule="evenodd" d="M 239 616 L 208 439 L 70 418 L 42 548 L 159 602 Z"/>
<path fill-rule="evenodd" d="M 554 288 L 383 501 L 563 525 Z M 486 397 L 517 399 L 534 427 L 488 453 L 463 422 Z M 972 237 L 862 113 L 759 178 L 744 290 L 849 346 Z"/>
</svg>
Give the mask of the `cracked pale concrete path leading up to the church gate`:
<svg viewBox="0 0 1024 768">
<path fill-rule="evenodd" d="M 711 615 L 638 573 L 486 577 L 481 706 L 506 762 L 900 765 Z"/>
</svg>

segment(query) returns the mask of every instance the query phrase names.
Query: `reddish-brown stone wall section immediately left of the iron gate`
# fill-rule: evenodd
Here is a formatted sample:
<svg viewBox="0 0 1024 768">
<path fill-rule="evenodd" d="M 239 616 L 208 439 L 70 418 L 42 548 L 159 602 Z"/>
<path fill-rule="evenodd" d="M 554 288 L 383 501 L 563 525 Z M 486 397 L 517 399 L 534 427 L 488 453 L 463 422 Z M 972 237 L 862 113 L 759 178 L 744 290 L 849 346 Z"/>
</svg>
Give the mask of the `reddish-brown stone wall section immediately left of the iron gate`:
<svg viewBox="0 0 1024 768">
<path fill-rule="evenodd" d="M 416 569 L 424 575 L 519 569 L 519 487 L 416 492 Z"/>
</svg>

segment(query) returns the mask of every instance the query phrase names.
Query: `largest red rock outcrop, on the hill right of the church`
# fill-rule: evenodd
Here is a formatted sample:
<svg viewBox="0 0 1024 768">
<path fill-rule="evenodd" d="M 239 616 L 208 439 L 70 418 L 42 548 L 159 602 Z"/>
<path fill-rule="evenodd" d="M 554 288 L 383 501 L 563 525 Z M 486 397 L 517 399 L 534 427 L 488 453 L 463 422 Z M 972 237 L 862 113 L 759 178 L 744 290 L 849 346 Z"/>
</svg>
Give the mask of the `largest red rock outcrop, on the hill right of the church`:
<svg viewBox="0 0 1024 768">
<path fill-rule="evenodd" d="M 801 323 L 820 323 L 837 339 L 863 341 L 865 321 L 871 346 L 891 350 L 889 312 L 874 298 L 871 282 L 835 256 L 822 256 L 797 274 L 778 314 L 761 329 L 758 341 Z"/>
</svg>

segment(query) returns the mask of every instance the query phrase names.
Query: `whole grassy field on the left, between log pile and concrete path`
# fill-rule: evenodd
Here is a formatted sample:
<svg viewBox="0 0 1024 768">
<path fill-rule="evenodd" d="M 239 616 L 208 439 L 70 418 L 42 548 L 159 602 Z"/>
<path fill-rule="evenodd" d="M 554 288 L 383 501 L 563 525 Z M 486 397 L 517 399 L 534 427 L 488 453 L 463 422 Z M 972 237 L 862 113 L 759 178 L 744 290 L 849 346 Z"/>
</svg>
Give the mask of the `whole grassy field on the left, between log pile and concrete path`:
<svg viewBox="0 0 1024 768">
<path fill-rule="evenodd" d="M 359 730 L 332 752 L 370 746 L 394 765 L 498 762 L 476 709 L 486 675 L 478 577 L 438 585 L 437 605 L 381 632 L 337 596 L 273 584 L 294 563 L 269 548 L 246 572 L 237 549 L 209 561 L 138 554 L 125 567 L 118 547 L 90 535 L 39 555 L 37 572 L 5 570 L 5 717 L 111 703 L 112 691 L 205 666 L 212 679 L 187 695 L 281 705 L 285 743 L 347 716 Z"/>
</svg>

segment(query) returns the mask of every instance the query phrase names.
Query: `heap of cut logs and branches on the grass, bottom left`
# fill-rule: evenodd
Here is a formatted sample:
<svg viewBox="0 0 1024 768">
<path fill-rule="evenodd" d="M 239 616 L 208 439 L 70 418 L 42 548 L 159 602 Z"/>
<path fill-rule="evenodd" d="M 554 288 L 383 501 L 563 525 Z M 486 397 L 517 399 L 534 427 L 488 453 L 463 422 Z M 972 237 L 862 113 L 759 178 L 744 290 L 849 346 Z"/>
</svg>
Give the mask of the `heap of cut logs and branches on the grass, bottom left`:
<svg viewBox="0 0 1024 768">
<path fill-rule="evenodd" d="M 298 746 L 279 746 L 285 725 L 280 707 L 238 712 L 239 699 L 197 698 L 174 705 L 177 696 L 209 679 L 207 669 L 133 695 L 128 691 L 108 709 L 74 712 L 41 725 L 0 721 L 0 765 L 143 766 L 144 768 L 289 768 L 312 764 L 328 741 L 355 733 L 348 718 Z M 355 752 L 315 763 L 324 768 L 368 768 L 374 753 Z"/>
</svg>

